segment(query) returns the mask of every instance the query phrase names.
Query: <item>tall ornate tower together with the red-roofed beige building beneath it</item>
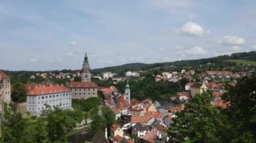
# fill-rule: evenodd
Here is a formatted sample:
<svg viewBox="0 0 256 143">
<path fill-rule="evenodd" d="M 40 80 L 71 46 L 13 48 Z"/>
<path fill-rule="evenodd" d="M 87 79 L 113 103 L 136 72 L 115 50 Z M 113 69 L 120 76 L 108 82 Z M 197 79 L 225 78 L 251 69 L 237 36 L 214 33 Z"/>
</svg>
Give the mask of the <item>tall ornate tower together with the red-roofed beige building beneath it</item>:
<svg viewBox="0 0 256 143">
<path fill-rule="evenodd" d="M 90 65 L 87 54 L 84 57 L 81 82 L 72 81 L 67 85 L 71 90 L 72 99 L 87 99 L 98 96 L 98 85 L 91 81 Z"/>
</svg>

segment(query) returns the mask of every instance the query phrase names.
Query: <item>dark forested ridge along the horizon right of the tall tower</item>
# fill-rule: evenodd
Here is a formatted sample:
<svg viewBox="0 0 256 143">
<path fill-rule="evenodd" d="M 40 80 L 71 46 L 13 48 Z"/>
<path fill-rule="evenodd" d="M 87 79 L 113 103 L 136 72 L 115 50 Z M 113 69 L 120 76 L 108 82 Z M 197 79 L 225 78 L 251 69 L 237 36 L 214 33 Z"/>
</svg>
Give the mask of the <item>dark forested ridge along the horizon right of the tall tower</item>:
<svg viewBox="0 0 256 143">
<path fill-rule="evenodd" d="M 207 63 L 218 63 L 218 62 L 226 62 L 226 60 L 249 60 L 249 61 L 256 61 L 256 52 L 238 52 L 231 55 L 223 55 L 223 56 L 216 56 L 213 58 L 201 58 L 198 60 L 177 60 L 174 62 L 161 62 L 161 63 L 154 63 L 154 64 L 143 64 L 143 63 L 130 63 L 130 64 L 123 64 L 121 66 L 110 66 L 105 68 L 96 68 L 92 70 L 93 73 L 100 73 L 103 71 L 118 71 L 118 70 L 131 70 L 131 69 L 143 69 L 143 68 L 152 68 L 156 66 L 193 66 L 199 64 L 207 64 Z"/>
</svg>

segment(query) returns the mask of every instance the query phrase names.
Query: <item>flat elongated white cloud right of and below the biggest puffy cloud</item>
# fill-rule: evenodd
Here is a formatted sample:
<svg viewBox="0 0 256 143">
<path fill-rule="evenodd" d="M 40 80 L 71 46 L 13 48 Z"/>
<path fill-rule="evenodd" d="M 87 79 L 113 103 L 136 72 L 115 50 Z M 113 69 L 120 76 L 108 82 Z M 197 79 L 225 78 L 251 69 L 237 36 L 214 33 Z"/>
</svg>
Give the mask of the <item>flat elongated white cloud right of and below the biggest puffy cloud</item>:
<svg viewBox="0 0 256 143">
<path fill-rule="evenodd" d="M 238 38 L 236 36 L 224 36 L 218 40 L 218 44 L 222 45 L 243 45 L 245 44 L 244 38 Z"/>
</svg>

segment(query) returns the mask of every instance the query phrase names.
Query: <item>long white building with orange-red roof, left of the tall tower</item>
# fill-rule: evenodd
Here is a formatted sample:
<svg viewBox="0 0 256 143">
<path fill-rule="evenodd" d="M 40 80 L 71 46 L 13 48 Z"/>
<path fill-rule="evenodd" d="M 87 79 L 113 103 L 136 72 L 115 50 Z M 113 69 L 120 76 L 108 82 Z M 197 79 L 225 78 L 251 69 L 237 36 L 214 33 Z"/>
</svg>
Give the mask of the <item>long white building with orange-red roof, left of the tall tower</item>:
<svg viewBox="0 0 256 143">
<path fill-rule="evenodd" d="M 27 93 L 27 111 L 37 117 L 50 105 L 51 109 L 71 109 L 71 91 L 64 86 L 34 87 Z"/>
</svg>

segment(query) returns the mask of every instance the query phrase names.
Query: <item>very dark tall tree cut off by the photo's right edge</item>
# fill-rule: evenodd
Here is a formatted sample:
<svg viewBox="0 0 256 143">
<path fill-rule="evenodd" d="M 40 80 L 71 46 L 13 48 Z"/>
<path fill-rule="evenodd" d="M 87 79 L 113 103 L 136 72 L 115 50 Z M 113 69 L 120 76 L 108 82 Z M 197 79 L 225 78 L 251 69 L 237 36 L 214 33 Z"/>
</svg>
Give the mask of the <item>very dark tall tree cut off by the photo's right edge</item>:
<svg viewBox="0 0 256 143">
<path fill-rule="evenodd" d="M 256 73 L 238 80 L 236 86 L 226 84 L 228 93 L 222 96 L 230 105 L 228 116 L 231 142 L 256 142 Z M 229 142 L 230 142 L 229 141 Z"/>
</svg>

